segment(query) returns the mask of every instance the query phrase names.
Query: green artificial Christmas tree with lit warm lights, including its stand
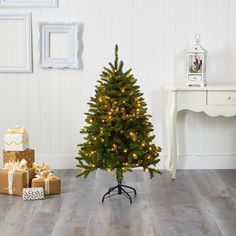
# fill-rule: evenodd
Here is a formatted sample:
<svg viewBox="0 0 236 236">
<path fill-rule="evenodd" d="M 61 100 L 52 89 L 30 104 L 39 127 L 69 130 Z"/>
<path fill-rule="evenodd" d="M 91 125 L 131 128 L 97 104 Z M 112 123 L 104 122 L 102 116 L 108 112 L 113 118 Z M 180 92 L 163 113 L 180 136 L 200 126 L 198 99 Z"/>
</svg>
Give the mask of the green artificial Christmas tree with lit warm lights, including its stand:
<svg viewBox="0 0 236 236">
<path fill-rule="evenodd" d="M 149 121 L 150 115 L 146 114 L 146 103 L 136 85 L 137 80 L 131 69 L 123 72 L 123 65 L 123 61 L 118 60 L 116 45 L 114 64 L 104 67 L 95 96 L 88 103 L 90 109 L 85 113 L 88 125 L 81 131 L 85 134 L 85 142 L 78 145 L 79 156 L 76 158 L 77 167 L 83 169 L 78 176 L 87 177 L 98 168 L 116 170 L 118 185 L 121 185 L 124 173 L 134 167 L 143 167 L 151 178 L 154 173 L 160 173 L 154 167 L 161 151 L 153 143 L 153 125 Z M 115 188 L 118 188 L 118 194 L 126 195 L 125 190 L 126 193 Z M 109 193 L 115 188 L 110 188 Z"/>
</svg>

